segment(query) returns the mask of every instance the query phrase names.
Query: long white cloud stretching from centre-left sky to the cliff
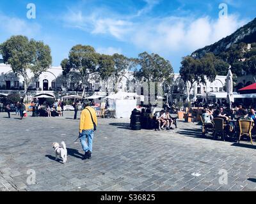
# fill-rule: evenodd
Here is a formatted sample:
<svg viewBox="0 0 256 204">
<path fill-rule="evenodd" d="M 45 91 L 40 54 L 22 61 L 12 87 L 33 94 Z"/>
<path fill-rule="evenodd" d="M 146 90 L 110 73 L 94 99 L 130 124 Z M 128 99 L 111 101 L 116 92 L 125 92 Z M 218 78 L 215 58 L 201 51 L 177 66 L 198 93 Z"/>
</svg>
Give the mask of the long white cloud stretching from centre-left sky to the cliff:
<svg viewBox="0 0 256 204">
<path fill-rule="evenodd" d="M 137 15 L 109 15 L 93 10 L 90 15 L 76 12 L 67 15 L 72 26 L 79 27 L 91 34 L 106 34 L 116 40 L 132 43 L 148 52 L 158 52 L 169 55 L 177 52 L 190 53 L 198 48 L 215 43 L 221 38 L 234 33 L 236 29 L 246 24 L 247 20 L 239 20 L 237 15 L 227 18 L 212 19 L 209 16 L 193 17 L 140 17 L 158 3 L 155 0 L 145 0 L 145 8 Z M 137 17 L 136 17 L 137 16 Z M 68 21 L 66 21 L 68 22 Z"/>
</svg>

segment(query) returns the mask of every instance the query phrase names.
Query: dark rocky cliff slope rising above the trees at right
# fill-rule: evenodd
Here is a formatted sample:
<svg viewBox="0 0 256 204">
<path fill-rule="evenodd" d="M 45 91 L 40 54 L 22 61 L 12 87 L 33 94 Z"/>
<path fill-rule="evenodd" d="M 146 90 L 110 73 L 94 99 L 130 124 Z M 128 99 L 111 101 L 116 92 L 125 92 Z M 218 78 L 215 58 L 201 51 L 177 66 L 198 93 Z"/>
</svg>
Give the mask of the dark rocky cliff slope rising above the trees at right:
<svg viewBox="0 0 256 204">
<path fill-rule="evenodd" d="M 221 39 L 220 41 L 196 50 L 191 54 L 195 58 L 200 58 L 205 55 L 207 52 L 212 52 L 215 55 L 224 52 L 231 45 L 237 43 L 255 43 L 256 42 L 256 18 L 249 22 L 248 24 L 244 25 L 243 27 L 239 28 L 235 33 L 227 36 L 226 38 Z"/>
</svg>

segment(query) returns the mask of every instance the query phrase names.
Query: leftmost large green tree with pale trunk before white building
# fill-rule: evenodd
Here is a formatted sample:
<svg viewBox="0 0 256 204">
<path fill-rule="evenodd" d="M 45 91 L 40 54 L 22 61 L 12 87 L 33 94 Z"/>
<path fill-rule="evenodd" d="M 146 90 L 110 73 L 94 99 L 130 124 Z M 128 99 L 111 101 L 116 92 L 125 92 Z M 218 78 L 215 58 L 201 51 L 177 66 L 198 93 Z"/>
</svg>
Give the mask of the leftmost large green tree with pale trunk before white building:
<svg viewBox="0 0 256 204">
<path fill-rule="evenodd" d="M 42 41 L 28 40 L 26 36 L 12 36 L 1 44 L 0 53 L 13 73 L 24 78 L 23 97 L 26 100 L 29 85 L 51 66 L 51 48 Z"/>
</svg>

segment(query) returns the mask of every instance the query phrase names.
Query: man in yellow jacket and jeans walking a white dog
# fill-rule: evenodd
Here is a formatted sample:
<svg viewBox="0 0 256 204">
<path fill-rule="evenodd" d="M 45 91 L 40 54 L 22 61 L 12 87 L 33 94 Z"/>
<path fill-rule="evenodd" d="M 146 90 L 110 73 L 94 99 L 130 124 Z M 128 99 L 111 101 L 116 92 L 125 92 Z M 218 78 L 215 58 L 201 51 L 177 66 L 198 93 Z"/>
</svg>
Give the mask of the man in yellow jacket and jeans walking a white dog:
<svg viewBox="0 0 256 204">
<path fill-rule="evenodd" d="M 97 126 L 97 115 L 94 108 L 89 104 L 84 104 L 85 108 L 81 113 L 79 125 L 79 138 L 84 150 L 84 159 L 91 159 L 92 157 L 92 142 L 93 142 L 93 122 Z M 86 143 L 87 139 L 87 143 Z"/>
</svg>

